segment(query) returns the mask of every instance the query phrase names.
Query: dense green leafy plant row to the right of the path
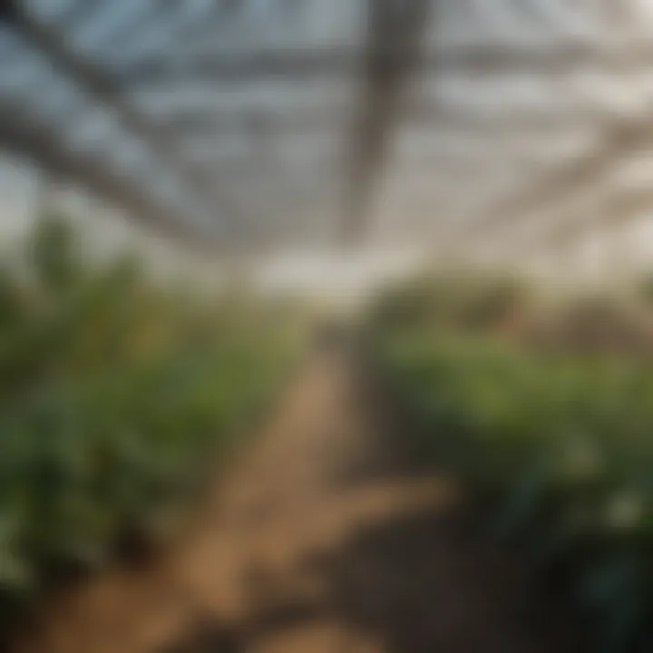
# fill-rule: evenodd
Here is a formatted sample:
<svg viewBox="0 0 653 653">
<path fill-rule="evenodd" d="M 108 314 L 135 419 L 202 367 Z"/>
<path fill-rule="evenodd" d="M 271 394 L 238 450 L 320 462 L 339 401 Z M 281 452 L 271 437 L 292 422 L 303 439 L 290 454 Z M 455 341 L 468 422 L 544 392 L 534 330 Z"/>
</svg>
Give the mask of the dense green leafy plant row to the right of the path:
<svg viewBox="0 0 653 653">
<path fill-rule="evenodd" d="M 582 302 L 567 311 L 574 328 L 559 319 L 547 346 L 506 336 L 509 314 L 530 309 L 501 290 L 479 287 L 466 304 L 458 295 L 456 317 L 436 294 L 415 300 L 409 285 L 402 303 L 395 288 L 375 314 L 377 354 L 434 459 L 452 454 L 483 498 L 492 534 L 520 541 L 545 570 L 566 570 L 596 649 L 651 650 L 653 368 L 639 349 L 615 350 L 614 333 L 602 347 L 579 346 L 598 326 Z M 555 321 L 537 319 L 541 333 Z"/>
</svg>

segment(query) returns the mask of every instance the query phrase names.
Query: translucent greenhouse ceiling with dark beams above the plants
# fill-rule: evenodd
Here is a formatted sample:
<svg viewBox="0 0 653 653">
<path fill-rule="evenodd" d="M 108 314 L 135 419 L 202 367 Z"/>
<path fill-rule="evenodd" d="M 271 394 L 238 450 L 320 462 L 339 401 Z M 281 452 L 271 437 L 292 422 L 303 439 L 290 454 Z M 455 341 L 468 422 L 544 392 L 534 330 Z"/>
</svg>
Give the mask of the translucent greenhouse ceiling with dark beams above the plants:
<svg viewBox="0 0 653 653">
<path fill-rule="evenodd" d="M 653 2 L 5 0 L 0 149 L 210 247 L 560 247 L 653 205 Z"/>
</svg>

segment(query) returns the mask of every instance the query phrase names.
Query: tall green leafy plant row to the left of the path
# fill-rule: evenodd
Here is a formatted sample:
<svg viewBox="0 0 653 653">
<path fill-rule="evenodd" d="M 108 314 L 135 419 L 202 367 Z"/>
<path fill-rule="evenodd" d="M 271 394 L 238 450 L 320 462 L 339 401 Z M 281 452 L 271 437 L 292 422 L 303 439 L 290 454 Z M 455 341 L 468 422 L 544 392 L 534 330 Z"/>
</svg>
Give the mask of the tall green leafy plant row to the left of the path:
<svg viewBox="0 0 653 653">
<path fill-rule="evenodd" d="M 160 537 L 245 434 L 293 350 L 261 302 L 156 288 L 84 262 L 46 219 L 0 274 L 0 590 L 9 613 L 62 570 Z"/>
</svg>

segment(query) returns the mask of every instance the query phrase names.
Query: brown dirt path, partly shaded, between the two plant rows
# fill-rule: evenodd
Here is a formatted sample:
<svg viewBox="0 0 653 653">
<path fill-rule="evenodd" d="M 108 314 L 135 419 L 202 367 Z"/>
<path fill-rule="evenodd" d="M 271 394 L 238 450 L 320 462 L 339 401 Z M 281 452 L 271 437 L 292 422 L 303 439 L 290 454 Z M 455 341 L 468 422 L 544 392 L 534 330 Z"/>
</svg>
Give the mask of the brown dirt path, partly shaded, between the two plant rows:
<svg viewBox="0 0 653 653">
<path fill-rule="evenodd" d="M 350 356 L 316 356 L 175 551 L 73 591 L 17 653 L 575 650 L 401 438 Z"/>
</svg>

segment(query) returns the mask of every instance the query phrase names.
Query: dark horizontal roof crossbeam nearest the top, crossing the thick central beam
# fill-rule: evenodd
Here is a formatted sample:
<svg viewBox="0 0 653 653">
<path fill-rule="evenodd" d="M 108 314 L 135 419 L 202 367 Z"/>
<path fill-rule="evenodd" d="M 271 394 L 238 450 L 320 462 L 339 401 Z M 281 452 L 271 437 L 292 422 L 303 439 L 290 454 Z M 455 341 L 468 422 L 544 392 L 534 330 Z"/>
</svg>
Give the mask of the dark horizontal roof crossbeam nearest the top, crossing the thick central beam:
<svg viewBox="0 0 653 653">
<path fill-rule="evenodd" d="M 410 54 L 406 48 L 405 54 Z M 171 66 L 165 58 L 144 58 L 140 62 L 116 67 L 117 79 L 127 86 L 147 88 L 166 83 L 253 83 L 285 77 L 314 80 L 317 76 L 351 73 L 365 52 L 360 48 L 297 50 L 274 48 L 252 54 L 203 54 Z M 396 53 L 381 49 L 377 60 L 389 74 Z M 600 44 L 560 44 L 529 47 L 524 44 L 452 45 L 415 55 L 416 63 L 427 72 L 469 74 L 564 74 L 582 68 L 618 73 L 624 69 L 646 70 L 653 62 L 651 44 L 602 46 Z"/>
</svg>

